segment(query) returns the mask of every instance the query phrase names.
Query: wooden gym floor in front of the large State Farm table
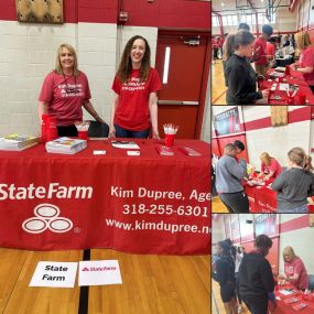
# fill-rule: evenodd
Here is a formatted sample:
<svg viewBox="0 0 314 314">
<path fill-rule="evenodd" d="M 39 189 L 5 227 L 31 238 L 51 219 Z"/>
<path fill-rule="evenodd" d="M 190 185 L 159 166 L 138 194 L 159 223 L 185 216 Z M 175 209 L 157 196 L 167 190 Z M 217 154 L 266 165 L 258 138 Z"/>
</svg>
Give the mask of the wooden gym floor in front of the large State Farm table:
<svg viewBox="0 0 314 314">
<path fill-rule="evenodd" d="M 39 261 L 77 262 L 83 260 L 83 251 L 0 248 L 0 313 L 209 313 L 210 256 L 144 256 L 90 250 L 90 260 L 105 259 L 119 261 L 122 284 L 83 288 L 85 292 L 77 282 L 73 289 L 30 288 Z"/>
</svg>

